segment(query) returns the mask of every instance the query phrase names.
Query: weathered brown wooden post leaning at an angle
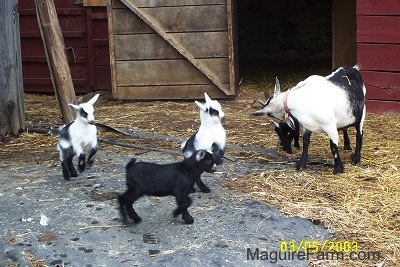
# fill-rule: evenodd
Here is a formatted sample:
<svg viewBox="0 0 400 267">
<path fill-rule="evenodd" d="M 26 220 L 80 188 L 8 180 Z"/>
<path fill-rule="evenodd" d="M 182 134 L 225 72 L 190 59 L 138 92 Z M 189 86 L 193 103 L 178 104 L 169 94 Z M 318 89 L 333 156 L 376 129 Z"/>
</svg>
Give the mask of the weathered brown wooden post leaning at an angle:
<svg viewBox="0 0 400 267">
<path fill-rule="evenodd" d="M 53 0 L 35 0 L 35 5 L 61 117 L 64 123 L 68 124 L 74 120 L 74 114 L 68 103 L 76 103 L 76 95 L 56 8 Z"/>
</svg>

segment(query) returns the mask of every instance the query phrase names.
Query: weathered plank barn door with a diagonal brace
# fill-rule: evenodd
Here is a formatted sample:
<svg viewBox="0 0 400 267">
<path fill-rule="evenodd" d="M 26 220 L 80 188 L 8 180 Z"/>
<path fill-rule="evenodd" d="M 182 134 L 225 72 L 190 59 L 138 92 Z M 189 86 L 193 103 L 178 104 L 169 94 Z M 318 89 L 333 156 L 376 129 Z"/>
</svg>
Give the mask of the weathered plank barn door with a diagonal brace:
<svg viewBox="0 0 400 267">
<path fill-rule="evenodd" d="M 237 93 L 233 0 L 110 0 L 113 96 L 215 98 Z"/>
</svg>

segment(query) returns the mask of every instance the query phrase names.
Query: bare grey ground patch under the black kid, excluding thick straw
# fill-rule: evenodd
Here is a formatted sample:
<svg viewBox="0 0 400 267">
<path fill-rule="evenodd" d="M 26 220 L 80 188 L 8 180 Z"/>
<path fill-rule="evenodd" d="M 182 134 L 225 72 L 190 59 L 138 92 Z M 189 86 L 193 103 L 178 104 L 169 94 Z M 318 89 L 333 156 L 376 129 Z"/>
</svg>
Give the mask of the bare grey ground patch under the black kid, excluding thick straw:
<svg viewBox="0 0 400 267">
<path fill-rule="evenodd" d="M 134 152 L 102 145 L 94 166 L 71 181 L 63 180 L 60 166 L 46 164 L 52 147 L 43 150 L 43 161 L 2 159 L 0 266 L 307 266 L 306 260 L 248 260 L 247 248 L 277 251 L 280 241 L 330 237 L 308 220 L 222 188 L 224 180 L 264 168 L 242 160 L 203 175 L 212 192 L 191 195 L 193 225 L 172 217 L 172 197 L 144 197 L 135 203 L 143 222 L 124 226 L 115 197 L 125 189 L 123 165 Z M 157 152 L 138 157 L 180 160 Z M 42 215 L 48 225 L 41 225 Z"/>
</svg>

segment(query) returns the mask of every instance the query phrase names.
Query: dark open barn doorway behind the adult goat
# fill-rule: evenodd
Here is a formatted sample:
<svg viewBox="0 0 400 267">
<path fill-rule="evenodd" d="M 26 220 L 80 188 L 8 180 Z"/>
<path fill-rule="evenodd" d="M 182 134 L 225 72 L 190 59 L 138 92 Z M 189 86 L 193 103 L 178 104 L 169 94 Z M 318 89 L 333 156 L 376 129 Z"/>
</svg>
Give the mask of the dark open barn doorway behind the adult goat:
<svg viewBox="0 0 400 267">
<path fill-rule="evenodd" d="M 329 74 L 335 64 L 354 64 L 351 2 L 237 0 L 241 91 L 271 91 L 275 77 L 286 90 L 309 75 Z"/>
</svg>

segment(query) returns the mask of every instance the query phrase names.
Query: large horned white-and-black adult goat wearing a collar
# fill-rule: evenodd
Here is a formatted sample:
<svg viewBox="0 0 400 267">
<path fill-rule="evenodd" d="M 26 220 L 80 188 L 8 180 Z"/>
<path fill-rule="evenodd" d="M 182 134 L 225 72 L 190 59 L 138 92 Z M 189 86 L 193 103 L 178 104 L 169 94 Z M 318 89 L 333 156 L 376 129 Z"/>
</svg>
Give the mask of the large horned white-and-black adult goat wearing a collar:
<svg viewBox="0 0 400 267">
<path fill-rule="evenodd" d="M 360 162 L 366 113 L 365 93 L 358 66 L 340 67 L 326 77 L 312 75 L 284 93 L 281 93 L 279 84 L 275 85 L 274 96 L 267 105 L 252 114 L 267 114 L 278 119 L 290 114 L 298 119 L 304 127 L 303 153 L 297 163 L 300 171 L 307 165 L 311 133 L 327 133 L 335 162 L 333 172 L 337 174 L 344 171 L 338 150 L 338 129 L 355 126 L 356 148 L 352 163 Z"/>
</svg>

